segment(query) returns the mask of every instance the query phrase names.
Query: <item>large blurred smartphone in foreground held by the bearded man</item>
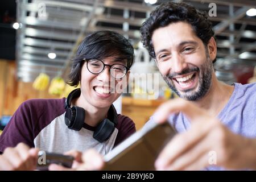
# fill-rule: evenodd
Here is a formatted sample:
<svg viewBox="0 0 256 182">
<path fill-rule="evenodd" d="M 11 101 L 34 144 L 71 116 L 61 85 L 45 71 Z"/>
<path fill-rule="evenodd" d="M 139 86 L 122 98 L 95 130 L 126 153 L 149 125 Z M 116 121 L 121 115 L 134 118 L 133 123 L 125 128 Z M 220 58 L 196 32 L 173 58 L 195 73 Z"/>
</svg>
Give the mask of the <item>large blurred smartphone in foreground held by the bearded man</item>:
<svg viewBox="0 0 256 182">
<path fill-rule="evenodd" d="M 176 133 L 168 122 L 160 125 L 152 122 L 151 126 L 137 131 L 106 154 L 103 170 L 154 170 L 158 154 Z"/>
</svg>

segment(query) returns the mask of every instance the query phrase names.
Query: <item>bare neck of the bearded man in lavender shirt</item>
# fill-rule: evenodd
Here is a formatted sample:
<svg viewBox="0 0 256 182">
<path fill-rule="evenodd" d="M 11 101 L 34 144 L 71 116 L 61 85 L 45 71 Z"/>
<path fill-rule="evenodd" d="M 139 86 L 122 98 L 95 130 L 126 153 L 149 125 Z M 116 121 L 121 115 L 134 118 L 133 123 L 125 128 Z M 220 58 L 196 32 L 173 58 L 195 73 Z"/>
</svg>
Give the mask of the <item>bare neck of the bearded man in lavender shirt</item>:
<svg viewBox="0 0 256 182">
<path fill-rule="evenodd" d="M 212 75 L 212 84 L 208 93 L 199 101 L 195 101 L 195 104 L 204 108 L 209 114 L 217 117 L 218 113 L 228 103 L 229 98 L 232 96 L 234 86 L 224 84 L 224 82 L 218 81 L 214 72 Z"/>
</svg>

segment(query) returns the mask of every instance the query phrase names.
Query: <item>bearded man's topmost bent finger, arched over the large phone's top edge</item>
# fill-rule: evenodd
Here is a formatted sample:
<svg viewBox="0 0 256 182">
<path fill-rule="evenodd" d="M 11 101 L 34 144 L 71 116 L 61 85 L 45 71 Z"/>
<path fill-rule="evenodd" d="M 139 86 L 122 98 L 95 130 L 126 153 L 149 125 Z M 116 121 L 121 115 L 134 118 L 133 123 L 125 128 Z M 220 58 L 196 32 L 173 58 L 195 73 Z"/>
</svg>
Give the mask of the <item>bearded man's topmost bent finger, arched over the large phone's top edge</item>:
<svg viewBox="0 0 256 182">
<path fill-rule="evenodd" d="M 153 119 L 155 122 L 162 123 L 168 119 L 170 114 L 179 111 L 187 115 L 192 121 L 196 121 L 202 116 L 208 115 L 203 109 L 197 107 L 195 104 L 181 98 L 175 98 L 160 105 L 158 109 L 156 109 Z"/>
</svg>

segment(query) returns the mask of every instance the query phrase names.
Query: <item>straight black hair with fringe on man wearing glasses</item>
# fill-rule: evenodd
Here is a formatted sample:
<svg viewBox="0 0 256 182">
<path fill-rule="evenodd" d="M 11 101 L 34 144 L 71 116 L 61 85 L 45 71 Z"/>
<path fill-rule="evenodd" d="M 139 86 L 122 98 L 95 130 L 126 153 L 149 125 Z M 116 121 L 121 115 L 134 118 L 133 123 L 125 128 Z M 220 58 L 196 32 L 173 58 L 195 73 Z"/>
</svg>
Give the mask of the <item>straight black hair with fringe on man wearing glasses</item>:
<svg viewBox="0 0 256 182">
<path fill-rule="evenodd" d="M 134 48 L 130 40 L 110 30 L 96 31 L 86 36 L 77 49 L 76 57 L 72 60 L 72 68 L 67 83 L 71 86 L 79 85 L 81 69 L 84 64 L 83 59 L 103 60 L 112 56 L 118 60 L 123 60 L 126 66 L 130 68 L 134 62 Z"/>
</svg>

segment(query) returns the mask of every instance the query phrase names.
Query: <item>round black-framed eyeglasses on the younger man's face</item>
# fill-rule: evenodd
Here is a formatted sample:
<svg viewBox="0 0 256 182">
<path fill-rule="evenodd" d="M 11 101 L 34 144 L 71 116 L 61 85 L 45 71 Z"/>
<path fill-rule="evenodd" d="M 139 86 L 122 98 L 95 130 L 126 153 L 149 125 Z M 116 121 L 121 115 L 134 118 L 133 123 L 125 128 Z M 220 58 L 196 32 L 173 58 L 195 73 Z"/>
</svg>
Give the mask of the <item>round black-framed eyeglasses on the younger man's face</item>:
<svg viewBox="0 0 256 182">
<path fill-rule="evenodd" d="M 105 67 L 109 67 L 110 75 L 115 79 L 121 79 L 126 75 L 130 68 L 126 67 L 123 64 L 105 64 L 102 60 L 99 59 L 83 59 L 86 61 L 87 69 L 90 73 L 99 74 L 104 71 Z"/>
</svg>

